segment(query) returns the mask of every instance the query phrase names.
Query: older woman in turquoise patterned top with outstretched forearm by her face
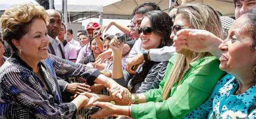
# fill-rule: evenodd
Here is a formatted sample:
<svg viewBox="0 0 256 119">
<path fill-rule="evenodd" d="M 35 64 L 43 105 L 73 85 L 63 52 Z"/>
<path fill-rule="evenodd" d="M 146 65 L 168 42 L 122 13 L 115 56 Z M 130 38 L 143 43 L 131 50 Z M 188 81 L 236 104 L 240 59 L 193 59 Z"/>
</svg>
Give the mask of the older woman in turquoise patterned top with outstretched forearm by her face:
<svg viewBox="0 0 256 119">
<path fill-rule="evenodd" d="M 217 82 L 211 96 L 187 118 L 255 119 L 256 117 L 256 9 L 232 24 L 228 38 L 198 29 L 177 32 L 179 49 L 209 51 L 220 60 L 219 68 L 229 74 Z M 193 44 L 190 40 L 193 40 Z M 200 113 L 196 114 L 196 113 Z"/>
</svg>

